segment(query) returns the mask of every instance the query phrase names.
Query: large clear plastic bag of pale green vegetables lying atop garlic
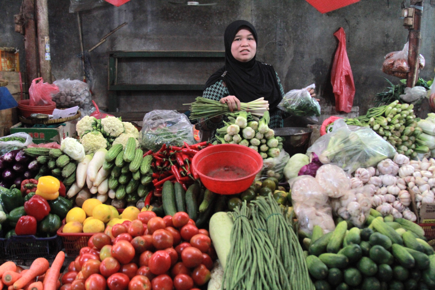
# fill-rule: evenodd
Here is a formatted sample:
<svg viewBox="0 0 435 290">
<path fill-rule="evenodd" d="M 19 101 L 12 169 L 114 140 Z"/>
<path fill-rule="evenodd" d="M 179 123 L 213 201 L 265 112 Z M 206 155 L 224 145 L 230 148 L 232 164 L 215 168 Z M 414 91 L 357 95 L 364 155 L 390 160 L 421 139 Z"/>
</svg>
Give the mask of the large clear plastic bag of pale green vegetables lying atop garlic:
<svg viewBox="0 0 435 290">
<path fill-rule="evenodd" d="M 333 163 L 348 174 L 397 154 L 394 147 L 371 128 L 348 126 L 343 119 L 335 121 L 332 132 L 318 138 L 307 152 L 316 153 L 323 164 Z"/>
</svg>

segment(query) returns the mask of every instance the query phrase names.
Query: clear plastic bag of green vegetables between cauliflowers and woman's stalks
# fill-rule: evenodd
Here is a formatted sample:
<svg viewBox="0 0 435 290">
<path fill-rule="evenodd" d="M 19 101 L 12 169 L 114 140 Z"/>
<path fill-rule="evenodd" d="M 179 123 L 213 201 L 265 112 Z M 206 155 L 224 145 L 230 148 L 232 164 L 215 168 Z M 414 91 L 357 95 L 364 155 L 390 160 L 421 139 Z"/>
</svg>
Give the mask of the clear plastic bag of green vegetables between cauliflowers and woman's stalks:
<svg viewBox="0 0 435 290">
<path fill-rule="evenodd" d="M 142 148 L 155 151 L 162 144 L 181 146 L 183 142 L 197 143 L 186 115 L 173 110 L 154 110 L 144 116 L 140 132 Z"/>
</svg>

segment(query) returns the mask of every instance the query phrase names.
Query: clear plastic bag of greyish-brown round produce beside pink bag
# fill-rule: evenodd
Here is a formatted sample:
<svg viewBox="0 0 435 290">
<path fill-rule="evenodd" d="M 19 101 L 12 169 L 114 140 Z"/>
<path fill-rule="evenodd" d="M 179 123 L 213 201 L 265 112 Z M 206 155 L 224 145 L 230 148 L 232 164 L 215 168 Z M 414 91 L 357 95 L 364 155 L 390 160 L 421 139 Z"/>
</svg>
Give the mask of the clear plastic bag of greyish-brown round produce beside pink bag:
<svg viewBox="0 0 435 290">
<path fill-rule="evenodd" d="M 91 105 L 92 97 L 89 85 L 83 81 L 61 79 L 54 81 L 59 88 L 59 92 L 52 94 L 52 99 L 56 102 L 56 108 L 87 108 Z"/>
</svg>

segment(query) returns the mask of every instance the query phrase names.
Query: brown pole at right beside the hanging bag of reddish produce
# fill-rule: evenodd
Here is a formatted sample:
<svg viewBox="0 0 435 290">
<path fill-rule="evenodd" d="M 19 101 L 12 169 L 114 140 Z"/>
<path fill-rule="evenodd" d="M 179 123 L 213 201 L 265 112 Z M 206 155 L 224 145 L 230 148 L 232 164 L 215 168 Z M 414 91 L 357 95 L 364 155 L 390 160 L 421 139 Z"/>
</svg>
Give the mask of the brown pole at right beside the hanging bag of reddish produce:
<svg viewBox="0 0 435 290">
<path fill-rule="evenodd" d="M 420 31 L 423 14 L 423 1 L 412 0 L 411 4 L 415 6 L 414 11 L 414 25 L 409 29 L 409 51 L 408 51 L 408 63 L 410 71 L 406 77 L 406 86 L 412 88 L 415 82 L 418 80 L 418 65 L 420 64 L 420 39 L 422 33 Z"/>
</svg>

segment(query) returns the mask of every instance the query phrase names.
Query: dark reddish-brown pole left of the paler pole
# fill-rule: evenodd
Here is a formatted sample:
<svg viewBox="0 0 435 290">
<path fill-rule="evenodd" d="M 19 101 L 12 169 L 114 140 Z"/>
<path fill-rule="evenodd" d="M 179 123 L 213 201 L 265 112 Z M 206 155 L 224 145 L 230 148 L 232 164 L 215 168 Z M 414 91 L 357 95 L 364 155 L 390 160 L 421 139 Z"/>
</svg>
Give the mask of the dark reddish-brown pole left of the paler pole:
<svg viewBox="0 0 435 290">
<path fill-rule="evenodd" d="M 24 28 L 24 49 L 26 51 L 26 70 L 27 86 L 30 87 L 32 81 L 38 77 L 38 55 L 36 45 L 35 28 L 35 2 L 34 0 L 24 1 L 24 18 L 26 19 Z"/>
</svg>

